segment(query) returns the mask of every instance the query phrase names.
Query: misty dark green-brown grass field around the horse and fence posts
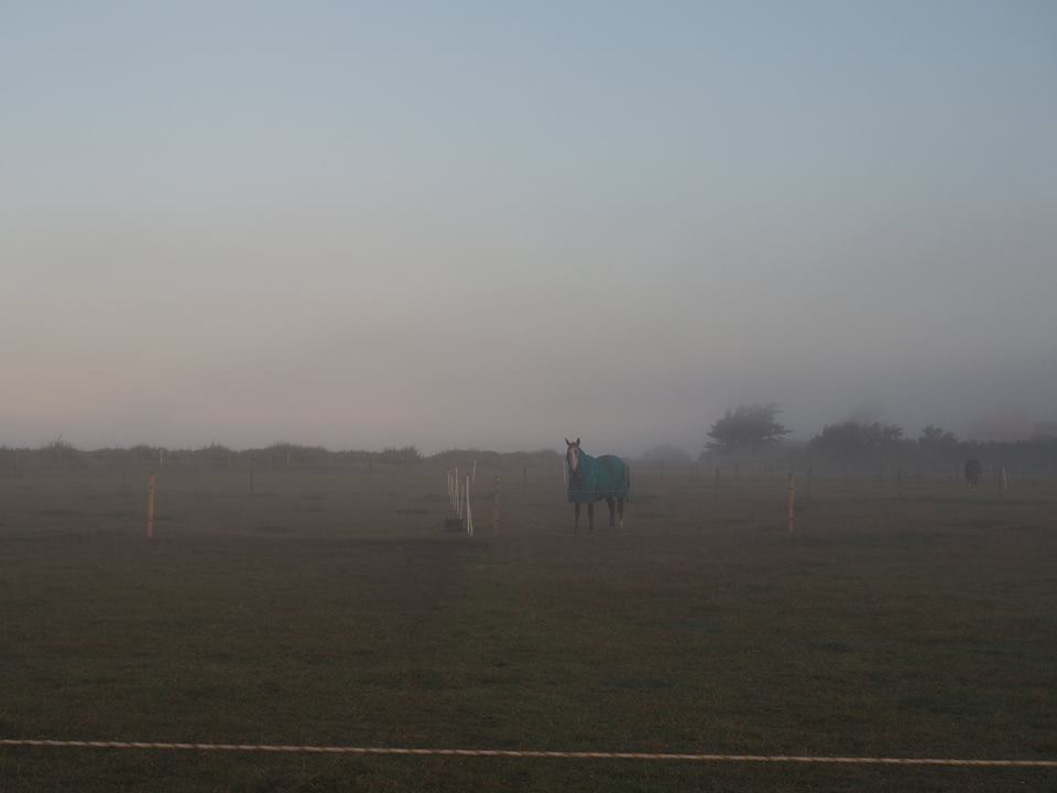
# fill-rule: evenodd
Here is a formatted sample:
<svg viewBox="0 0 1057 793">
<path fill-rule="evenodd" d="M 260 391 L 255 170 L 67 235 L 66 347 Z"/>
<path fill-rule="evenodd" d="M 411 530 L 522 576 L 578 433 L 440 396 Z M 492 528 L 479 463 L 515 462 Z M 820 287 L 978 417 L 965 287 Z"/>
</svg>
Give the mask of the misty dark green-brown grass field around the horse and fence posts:
<svg viewBox="0 0 1057 793">
<path fill-rule="evenodd" d="M 1057 759 L 1057 482 L 0 476 L 0 738 Z M 1053 790 L 1049 769 L 0 749 L 0 790 Z"/>
</svg>

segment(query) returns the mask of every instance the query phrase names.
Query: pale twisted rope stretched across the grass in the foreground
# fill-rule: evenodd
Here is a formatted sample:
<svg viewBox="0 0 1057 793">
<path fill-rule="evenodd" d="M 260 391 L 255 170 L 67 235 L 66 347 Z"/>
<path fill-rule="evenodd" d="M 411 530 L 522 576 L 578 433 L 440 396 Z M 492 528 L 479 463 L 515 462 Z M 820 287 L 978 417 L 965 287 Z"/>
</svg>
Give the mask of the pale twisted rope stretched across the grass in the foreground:
<svg viewBox="0 0 1057 793">
<path fill-rule="evenodd" d="M 684 762 L 815 763 L 829 765 L 958 765 L 972 768 L 1057 769 L 1057 760 L 970 760 L 955 758 L 872 758 L 826 757 L 810 754 L 697 754 L 672 752 L 542 751 L 516 749 L 406 749 L 400 747 L 286 746 L 274 743 L 164 743 L 161 741 L 78 741 L 19 738 L 0 738 L 0 747 L 271 752 L 286 754 L 482 757 L 522 758 L 534 760 L 654 760 Z"/>
</svg>

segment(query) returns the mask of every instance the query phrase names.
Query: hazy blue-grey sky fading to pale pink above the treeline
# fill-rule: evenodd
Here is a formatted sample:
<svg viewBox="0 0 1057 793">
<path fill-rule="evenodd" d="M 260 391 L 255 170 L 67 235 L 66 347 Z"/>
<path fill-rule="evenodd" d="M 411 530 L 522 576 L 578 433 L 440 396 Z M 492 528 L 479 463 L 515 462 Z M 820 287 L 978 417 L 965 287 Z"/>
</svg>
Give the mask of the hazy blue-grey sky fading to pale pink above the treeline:
<svg viewBox="0 0 1057 793">
<path fill-rule="evenodd" d="M 0 0 L 0 444 L 1057 420 L 1057 4 Z"/>
</svg>

